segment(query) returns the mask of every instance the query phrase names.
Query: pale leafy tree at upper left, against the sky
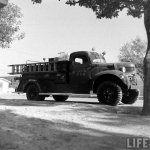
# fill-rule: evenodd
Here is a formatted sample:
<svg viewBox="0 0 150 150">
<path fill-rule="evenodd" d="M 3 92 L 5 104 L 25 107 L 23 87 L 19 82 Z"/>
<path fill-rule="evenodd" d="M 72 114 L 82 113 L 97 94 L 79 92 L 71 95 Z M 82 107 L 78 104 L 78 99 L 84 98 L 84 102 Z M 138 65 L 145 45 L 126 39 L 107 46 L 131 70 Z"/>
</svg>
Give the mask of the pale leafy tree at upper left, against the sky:
<svg viewBox="0 0 150 150">
<path fill-rule="evenodd" d="M 20 33 L 22 18 L 21 10 L 18 6 L 9 3 L 0 9 L 0 47 L 7 48 L 14 40 L 24 38 L 24 33 Z"/>
</svg>

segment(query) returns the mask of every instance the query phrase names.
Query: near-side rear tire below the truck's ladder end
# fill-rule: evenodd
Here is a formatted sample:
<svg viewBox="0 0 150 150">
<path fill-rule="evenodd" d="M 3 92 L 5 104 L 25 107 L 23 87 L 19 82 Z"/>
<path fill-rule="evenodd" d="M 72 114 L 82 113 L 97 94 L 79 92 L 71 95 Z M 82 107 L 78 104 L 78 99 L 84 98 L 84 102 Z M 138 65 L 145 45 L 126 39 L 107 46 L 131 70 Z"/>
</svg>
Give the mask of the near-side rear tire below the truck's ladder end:
<svg viewBox="0 0 150 150">
<path fill-rule="evenodd" d="M 26 90 L 26 96 L 28 100 L 43 101 L 45 96 L 39 95 L 39 88 L 35 84 L 30 84 Z"/>
</svg>

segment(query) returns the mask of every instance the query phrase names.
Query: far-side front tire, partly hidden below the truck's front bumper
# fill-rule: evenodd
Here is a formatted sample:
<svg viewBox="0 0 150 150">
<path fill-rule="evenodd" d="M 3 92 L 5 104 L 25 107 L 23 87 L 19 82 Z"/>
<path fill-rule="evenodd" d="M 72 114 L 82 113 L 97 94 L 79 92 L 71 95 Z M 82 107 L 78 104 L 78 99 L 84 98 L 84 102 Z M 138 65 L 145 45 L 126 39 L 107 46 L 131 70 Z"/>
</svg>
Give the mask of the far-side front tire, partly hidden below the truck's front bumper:
<svg viewBox="0 0 150 150">
<path fill-rule="evenodd" d="M 136 89 L 129 90 L 127 94 L 123 95 L 122 103 L 133 104 L 138 99 L 138 96 L 139 96 L 138 90 L 136 90 Z"/>
</svg>

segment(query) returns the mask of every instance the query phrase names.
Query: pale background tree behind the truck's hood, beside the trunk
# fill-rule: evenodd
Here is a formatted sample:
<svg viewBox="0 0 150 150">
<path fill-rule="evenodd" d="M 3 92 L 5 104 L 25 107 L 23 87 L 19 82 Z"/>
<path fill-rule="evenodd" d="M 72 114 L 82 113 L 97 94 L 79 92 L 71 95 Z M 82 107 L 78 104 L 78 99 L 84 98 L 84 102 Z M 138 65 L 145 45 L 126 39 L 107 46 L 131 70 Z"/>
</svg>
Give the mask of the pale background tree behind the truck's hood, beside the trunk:
<svg viewBox="0 0 150 150">
<path fill-rule="evenodd" d="M 146 53 L 146 42 L 140 38 L 136 38 L 131 42 L 127 42 L 120 49 L 119 60 L 121 62 L 133 62 L 137 69 L 137 74 L 143 80 L 143 61 Z"/>
</svg>

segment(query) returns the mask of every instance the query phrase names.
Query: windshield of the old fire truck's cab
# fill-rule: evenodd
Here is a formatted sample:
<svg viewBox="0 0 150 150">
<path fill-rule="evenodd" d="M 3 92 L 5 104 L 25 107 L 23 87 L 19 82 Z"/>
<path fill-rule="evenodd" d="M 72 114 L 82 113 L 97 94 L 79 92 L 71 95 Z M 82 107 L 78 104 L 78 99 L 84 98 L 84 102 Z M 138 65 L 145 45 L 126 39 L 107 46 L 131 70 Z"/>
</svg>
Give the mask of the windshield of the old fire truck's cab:
<svg viewBox="0 0 150 150">
<path fill-rule="evenodd" d="M 90 52 L 90 58 L 93 64 L 106 63 L 104 56 L 96 52 Z"/>
</svg>

